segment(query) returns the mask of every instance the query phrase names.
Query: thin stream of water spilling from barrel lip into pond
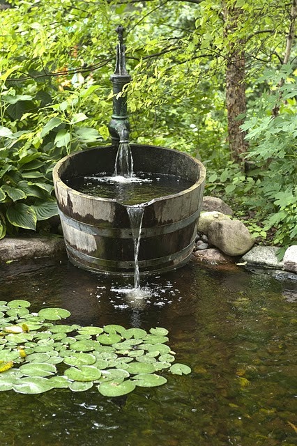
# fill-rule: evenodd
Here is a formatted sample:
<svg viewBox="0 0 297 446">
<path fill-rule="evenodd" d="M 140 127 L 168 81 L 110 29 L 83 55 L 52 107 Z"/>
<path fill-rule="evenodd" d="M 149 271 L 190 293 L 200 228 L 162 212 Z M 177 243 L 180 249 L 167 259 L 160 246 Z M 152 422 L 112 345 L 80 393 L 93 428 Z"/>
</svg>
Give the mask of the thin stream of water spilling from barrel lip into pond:
<svg viewBox="0 0 297 446">
<path fill-rule="evenodd" d="M 134 244 L 134 288 L 135 290 L 140 289 L 140 279 L 139 279 L 139 265 L 138 265 L 138 252 L 142 231 L 142 217 L 144 216 L 143 206 L 126 206 L 127 212 L 130 218 L 130 224 L 132 229 L 132 238 Z"/>
</svg>

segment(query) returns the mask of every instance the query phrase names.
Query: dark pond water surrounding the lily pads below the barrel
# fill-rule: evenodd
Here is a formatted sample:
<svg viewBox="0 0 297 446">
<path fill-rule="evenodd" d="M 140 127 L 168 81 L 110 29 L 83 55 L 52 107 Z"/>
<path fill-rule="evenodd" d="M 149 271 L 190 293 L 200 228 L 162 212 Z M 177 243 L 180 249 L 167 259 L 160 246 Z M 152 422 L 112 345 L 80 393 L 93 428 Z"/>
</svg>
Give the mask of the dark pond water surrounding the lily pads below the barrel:
<svg viewBox="0 0 297 446">
<path fill-rule="evenodd" d="M 176 360 L 192 367 L 115 399 L 96 389 L 0 392 L 1 446 L 296 445 L 297 282 L 190 263 L 142 278 L 151 293 L 133 301 L 121 291 L 131 281 L 66 259 L 0 268 L 0 300 L 63 307 L 81 325 L 165 327 Z"/>
</svg>

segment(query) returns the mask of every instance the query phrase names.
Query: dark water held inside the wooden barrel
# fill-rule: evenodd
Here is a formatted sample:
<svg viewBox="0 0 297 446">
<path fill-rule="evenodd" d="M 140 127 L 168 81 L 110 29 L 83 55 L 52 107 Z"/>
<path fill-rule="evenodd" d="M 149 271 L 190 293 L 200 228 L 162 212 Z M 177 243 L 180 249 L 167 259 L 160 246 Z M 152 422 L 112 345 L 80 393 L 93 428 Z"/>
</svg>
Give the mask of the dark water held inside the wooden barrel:
<svg viewBox="0 0 297 446">
<path fill-rule="evenodd" d="M 147 173 L 137 173 L 137 177 L 134 178 L 106 174 L 105 176 L 78 176 L 70 178 L 66 183 L 84 194 L 93 197 L 116 198 L 120 203 L 129 206 L 177 194 L 193 185 L 192 181 L 174 175 Z"/>
</svg>

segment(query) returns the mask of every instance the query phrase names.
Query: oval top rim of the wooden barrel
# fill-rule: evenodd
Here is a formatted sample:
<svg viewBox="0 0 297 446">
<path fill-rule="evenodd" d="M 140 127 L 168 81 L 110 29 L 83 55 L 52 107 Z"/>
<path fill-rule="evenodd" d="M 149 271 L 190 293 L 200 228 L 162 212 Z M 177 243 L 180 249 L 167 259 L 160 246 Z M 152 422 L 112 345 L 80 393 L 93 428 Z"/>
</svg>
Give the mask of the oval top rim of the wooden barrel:
<svg viewBox="0 0 297 446">
<path fill-rule="evenodd" d="M 148 147 L 148 148 L 157 148 L 160 150 L 165 150 L 165 151 L 170 151 L 170 152 L 174 152 L 177 153 L 178 155 L 182 155 L 184 157 L 188 157 L 190 160 L 192 160 L 193 162 L 195 162 L 195 164 L 199 165 L 199 178 L 197 179 L 197 181 L 195 181 L 195 183 L 191 186 L 188 187 L 188 189 L 184 189 L 181 190 L 181 192 L 178 192 L 177 194 L 170 194 L 170 195 L 164 195 L 163 197 L 158 197 L 158 198 L 154 198 L 150 201 L 146 201 L 144 203 L 140 203 L 135 205 L 136 206 L 142 206 L 142 207 L 146 207 L 146 206 L 151 206 L 153 203 L 156 203 L 158 201 L 164 201 L 165 199 L 173 199 L 176 197 L 181 197 L 183 196 L 183 194 L 188 194 L 189 192 L 192 192 L 192 190 L 197 189 L 197 187 L 200 187 L 204 181 L 206 180 L 206 168 L 204 167 L 204 164 L 202 164 L 202 162 L 200 160 L 197 160 L 197 158 L 193 157 L 192 155 L 188 155 L 188 153 L 183 153 L 180 151 L 177 151 L 174 148 L 168 148 L 168 147 L 162 147 L 162 146 L 151 146 L 148 144 L 130 144 L 130 146 L 133 147 Z M 72 191 L 71 193 L 79 196 L 79 197 L 83 197 L 84 199 L 91 199 L 92 201 L 103 201 L 103 202 L 107 202 L 107 203 L 116 203 L 119 206 L 123 206 L 124 208 L 127 208 L 127 205 L 121 203 L 120 201 L 118 201 L 117 199 L 114 198 L 103 198 L 103 197 L 94 197 L 93 195 L 89 195 L 89 194 L 84 194 L 83 192 L 79 192 L 78 190 L 73 189 L 72 187 L 69 187 L 68 185 L 66 185 L 66 183 L 63 182 L 63 180 L 61 180 L 61 177 L 59 176 L 59 169 L 61 169 L 61 166 L 64 164 L 64 162 L 66 162 L 68 159 L 75 157 L 77 155 L 79 155 L 82 152 L 89 152 L 89 151 L 96 151 L 96 150 L 100 150 L 102 148 L 114 148 L 114 146 L 98 146 L 98 147 L 93 147 L 90 148 L 89 150 L 86 151 L 79 151 L 79 152 L 75 152 L 75 153 L 70 153 L 70 155 L 66 155 L 65 157 L 63 157 L 61 160 L 59 160 L 55 166 L 54 169 L 52 171 L 52 176 L 53 176 L 53 180 L 54 180 L 54 184 L 58 184 L 61 183 L 61 185 L 63 185 L 63 188 L 65 188 L 66 190 Z"/>
</svg>

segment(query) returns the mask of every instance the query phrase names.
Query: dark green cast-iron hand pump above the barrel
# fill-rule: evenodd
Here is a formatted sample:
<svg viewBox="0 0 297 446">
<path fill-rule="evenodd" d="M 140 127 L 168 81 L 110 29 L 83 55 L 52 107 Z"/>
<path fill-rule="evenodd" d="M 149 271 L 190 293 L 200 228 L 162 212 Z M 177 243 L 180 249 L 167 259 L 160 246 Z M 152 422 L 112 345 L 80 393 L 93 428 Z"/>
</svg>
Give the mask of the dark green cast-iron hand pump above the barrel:
<svg viewBox="0 0 297 446">
<path fill-rule="evenodd" d="M 112 81 L 113 112 L 112 120 L 109 122 L 109 133 L 112 137 L 112 144 L 116 147 L 120 142 L 128 142 L 130 134 L 130 124 L 127 112 L 127 95 L 123 92 L 125 84 L 131 80 L 131 76 L 125 67 L 125 45 L 123 44 L 123 26 L 117 26 L 116 32 L 119 34 L 119 43 L 116 46 L 116 69 L 110 77 Z"/>
</svg>

